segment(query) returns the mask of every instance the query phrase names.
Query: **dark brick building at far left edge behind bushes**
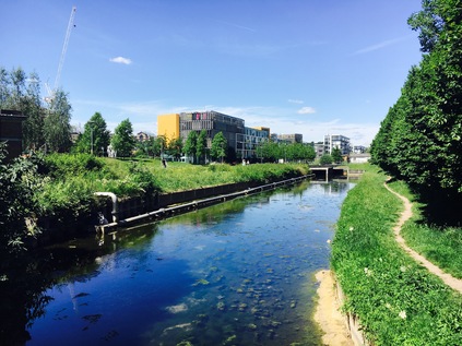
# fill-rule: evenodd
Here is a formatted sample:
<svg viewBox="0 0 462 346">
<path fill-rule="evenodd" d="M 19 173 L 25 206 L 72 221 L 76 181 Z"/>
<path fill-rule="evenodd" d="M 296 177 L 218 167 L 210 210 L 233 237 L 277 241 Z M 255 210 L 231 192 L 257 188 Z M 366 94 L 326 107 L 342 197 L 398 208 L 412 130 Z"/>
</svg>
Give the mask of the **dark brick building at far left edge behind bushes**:
<svg viewBox="0 0 462 346">
<path fill-rule="evenodd" d="M 23 121 L 26 118 L 19 110 L 0 109 L 0 142 L 7 142 L 7 159 L 23 153 Z"/>
</svg>

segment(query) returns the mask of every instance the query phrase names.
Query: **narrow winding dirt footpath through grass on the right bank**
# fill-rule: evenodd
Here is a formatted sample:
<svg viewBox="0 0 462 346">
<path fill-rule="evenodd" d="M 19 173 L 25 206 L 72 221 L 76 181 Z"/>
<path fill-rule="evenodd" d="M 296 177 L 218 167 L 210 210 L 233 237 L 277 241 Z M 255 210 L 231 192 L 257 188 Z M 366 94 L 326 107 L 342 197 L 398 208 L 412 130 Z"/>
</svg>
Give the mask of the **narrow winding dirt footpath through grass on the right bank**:
<svg viewBox="0 0 462 346">
<path fill-rule="evenodd" d="M 405 196 L 403 196 L 403 195 L 394 192 L 387 184 L 387 182 L 384 182 L 383 184 L 387 188 L 387 190 L 389 190 L 391 193 L 393 193 L 394 195 L 396 195 L 398 198 L 400 198 L 401 201 L 403 201 L 403 203 L 404 203 L 404 211 L 401 213 L 401 217 L 398 220 L 396 226 L 393 227 L 394 238 L 396 239 L 398 243 L 412 258 L 414 258 L 417 262 L 419 262 L 422 265 L 424 265 L 430 273 L 439 276 L 443 281 L 443 283 L 446 285 L 448 285 L 452 289 L 455 289 L 457 291 L 459 291 L 460 294 L 462 294 L 462 279 L 455 278 L 452 275 L 450 275 L 448 273 L 445 273 L 443 271 L 441 271 L 441 269 L 439 269 L 438 266 L 436 266 L 435 264 L 433 264 L 431 262 L 429 262 L 426 258 L 424 258 L 423 255 L 418 254 L 413 249 L 411 249 L 410 247 L 406 246 L 406 243 L 404 241 L 404 238 L 401 236 L 401 228 L 404 225 L 404 223 L 407 219 L 410 219 L 411 216 L 412 216 L 412 203 Z"/>
</svg>

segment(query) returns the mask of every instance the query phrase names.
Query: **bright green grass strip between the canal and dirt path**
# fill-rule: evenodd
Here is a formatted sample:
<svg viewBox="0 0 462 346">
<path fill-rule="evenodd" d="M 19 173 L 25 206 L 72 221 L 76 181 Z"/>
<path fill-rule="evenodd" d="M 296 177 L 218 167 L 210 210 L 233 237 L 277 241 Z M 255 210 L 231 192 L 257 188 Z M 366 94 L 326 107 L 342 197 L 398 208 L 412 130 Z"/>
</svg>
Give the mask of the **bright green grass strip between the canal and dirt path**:
<svg viewBox="0 0 462 346">
<path fill-rule="evenodd" d="M 376 345 L 461 345 L 462 297 L 408 258 L 393 239 L 401 202 L 369 166 L 342 206 L 332 267 Z"/>
</svg>

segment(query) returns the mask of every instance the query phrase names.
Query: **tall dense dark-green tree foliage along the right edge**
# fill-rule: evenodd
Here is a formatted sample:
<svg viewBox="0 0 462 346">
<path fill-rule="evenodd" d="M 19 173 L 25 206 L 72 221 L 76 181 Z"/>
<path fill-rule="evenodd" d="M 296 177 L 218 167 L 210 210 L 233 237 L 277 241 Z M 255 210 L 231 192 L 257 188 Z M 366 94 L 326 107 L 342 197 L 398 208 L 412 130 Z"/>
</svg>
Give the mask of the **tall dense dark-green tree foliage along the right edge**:
<svg viewBox="0 0 462 346">
<path fill-rule="evenodd" d="M 410 21 L 429 53 L 410 71 L 371 155 L 374 163 L 419 194 L 428 220 L 457 223 L 453 216 L 462 206 L 460 1 L 425 0 L 423 5 Z"/>
</svg>

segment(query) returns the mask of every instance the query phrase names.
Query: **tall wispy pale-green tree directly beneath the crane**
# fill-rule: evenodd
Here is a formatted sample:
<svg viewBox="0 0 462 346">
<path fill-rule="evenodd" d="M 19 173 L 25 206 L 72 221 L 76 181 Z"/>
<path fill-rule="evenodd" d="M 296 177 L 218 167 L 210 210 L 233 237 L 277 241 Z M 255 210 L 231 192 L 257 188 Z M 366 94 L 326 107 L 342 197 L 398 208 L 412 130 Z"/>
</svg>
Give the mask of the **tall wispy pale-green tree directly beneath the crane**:
<svg viewBox="0 0 462 346">
<path fill-rule="evenodd" d="M 63 153 L 71 147 L 71 109 L 68 95 L 58 90 L 44 120 L 45 142 L 51 152 Z"/>
</svg>

